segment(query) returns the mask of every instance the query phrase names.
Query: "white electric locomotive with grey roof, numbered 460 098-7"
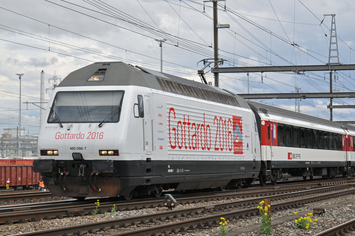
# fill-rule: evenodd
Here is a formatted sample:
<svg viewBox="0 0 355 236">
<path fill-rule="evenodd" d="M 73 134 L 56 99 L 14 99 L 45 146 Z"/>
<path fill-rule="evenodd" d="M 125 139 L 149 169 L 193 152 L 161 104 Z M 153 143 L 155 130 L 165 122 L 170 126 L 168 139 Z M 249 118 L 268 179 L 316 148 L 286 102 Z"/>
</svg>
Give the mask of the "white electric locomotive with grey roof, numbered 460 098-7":
<svg viewBox="0 0 355 236">
<path fill-rule="evenodd" d="M 229 91 L 100 62 L 55 88 L 33 165 L 55 196 L 79 199 L 241 187 L 259 176 L 259 137 Z"/>
</svg>

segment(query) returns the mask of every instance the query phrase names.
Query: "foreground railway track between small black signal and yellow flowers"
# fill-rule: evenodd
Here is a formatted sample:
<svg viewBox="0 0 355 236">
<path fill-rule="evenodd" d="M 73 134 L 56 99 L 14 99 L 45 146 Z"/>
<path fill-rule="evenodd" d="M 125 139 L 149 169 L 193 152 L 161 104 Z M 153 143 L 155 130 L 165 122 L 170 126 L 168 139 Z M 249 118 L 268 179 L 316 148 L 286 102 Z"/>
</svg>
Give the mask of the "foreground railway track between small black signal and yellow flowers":
<svg viewBox="0 0 355 236">
<path fill-rule="evenodd" d="M 344 189 L 349 187 L 352 188 Z M 329 191 L 333 191 L 333 192 L 315 195 L 316 192 L 319 193 L 319 192 L 329 192 Z M 318 189 L 310 189 L 310 190 L 303 190 L 298 192 L 271 195 L 271 196 L 267 196 L 267 198 L 272 199 L 273 201 L 272 208 L 274 210 L 281 210 L 284 208 L 298 207 L 307 202 L 314 202 L 314 201 L 331 198 L 339 195 L 354 193 L 354 192 L 355 189 L 353 188 L 353 184 L 342 184 L 339 186 L 329 186 L 329 187 L 323 187 Z M 299 199 L 277 200 L 280 198 L 289 199 L 295 196 L 298 196 Z M 174 230 L 175 231 L 177 230 L 196 231 L 200 229 L 206 229 L 208 227 L 217 226 L 216 224 L 218 224 L 219 218 L 221 216 L 225 217 L 226 219 L 233 220 L 233 219 L 256 215 L 257 214 L 256 205 L 264 198 L 265 197 L 256 197 L 253 199 L 243 199 L 243 200 L 230 199 L 229 202 L 223 202 L 219 204 L 201 205 L 194 208 L 178 209 L 173 211 L 163 211 L 154 214 L 132 216 L 132 217 L 126 217 L 126 218 L 108 220 L 108 221 L 92 222 L 89 224 L 83 224 L 78 226 L 68 226 L 68 227 L 63 227 L 63 228 L 58 228 L 53 230 L 36 231 L 33 233 L 29 232 L 20 235 L 46 235 L 49 233 L 51 235 L 65 235 L 65 234 L 71 235 L 71 234 L 78 234 L 79 231 L 95 232 L 100 229 L 105 231 L 106 229 L 111 229 L 111 228 L 112 231 L 117 231 L 118 228 L 120 229 L 120 232 L 117 233 L 117 235 L 150 235 L 152 233 L 157 233 L 157 232 L 164 232 L 164 231 L 171 232 L 171 230 L 173 230 L 173 232 Z M 224 199 L 226 199 L 225 196 Z M 178 202 L 181 200 L 182 199 L 179 199 Z M 188 199 L 185 198 L 185 201 L 186 200 Z M 101 206 L 102 203 L 100 203 L 100 208 Z M 92 208 L 93 207 L 91 204 L 91 209 Z M 40 212 L 38 212 L 38 214 L 40 214 Z M 141 227 L 141 229 L 135 229 L 137 227 Z M 123 231 L 126 230 L 127 232 L 123 232 L 122 229 Z"/>
</svg>

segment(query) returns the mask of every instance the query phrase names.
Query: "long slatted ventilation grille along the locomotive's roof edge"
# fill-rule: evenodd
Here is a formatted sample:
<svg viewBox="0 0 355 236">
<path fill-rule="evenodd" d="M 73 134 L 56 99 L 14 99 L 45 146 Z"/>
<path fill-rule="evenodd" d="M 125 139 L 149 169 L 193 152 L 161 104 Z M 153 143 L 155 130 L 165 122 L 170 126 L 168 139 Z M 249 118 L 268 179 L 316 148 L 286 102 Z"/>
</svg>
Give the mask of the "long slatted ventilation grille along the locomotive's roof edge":
<svg viewBox="0 0 355 236">
<path fill-rule="evenodd" d="M 212 90 L 193 87 L 191 85 L 181 84 L 175 81 L 156 77 L 160 87 L 165 92 L 177 93 L 184 96 L 200 98 L 202 100 L 223 103 L 231 106 L 239 106 L 236 98 L 225 93 L 219 93 Z"/>
</svg>

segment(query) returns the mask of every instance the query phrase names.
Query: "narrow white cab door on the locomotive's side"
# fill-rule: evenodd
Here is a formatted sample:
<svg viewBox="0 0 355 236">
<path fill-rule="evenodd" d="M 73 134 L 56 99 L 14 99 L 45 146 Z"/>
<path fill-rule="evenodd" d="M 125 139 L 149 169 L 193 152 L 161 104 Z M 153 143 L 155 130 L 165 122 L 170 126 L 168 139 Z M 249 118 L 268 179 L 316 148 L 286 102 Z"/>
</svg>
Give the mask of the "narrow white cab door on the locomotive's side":
<svg viewBox="0 0 355 236">
<path fill-rule="evenodd" d="M 153 137 L 152 137 L 152 106 L 150 102 L 149 96 L 144 96 L 144 119 L 143 119 L 143 126 L 144 126 L 144 148 L 147 154 L 153 150 Z"/>
</svg>

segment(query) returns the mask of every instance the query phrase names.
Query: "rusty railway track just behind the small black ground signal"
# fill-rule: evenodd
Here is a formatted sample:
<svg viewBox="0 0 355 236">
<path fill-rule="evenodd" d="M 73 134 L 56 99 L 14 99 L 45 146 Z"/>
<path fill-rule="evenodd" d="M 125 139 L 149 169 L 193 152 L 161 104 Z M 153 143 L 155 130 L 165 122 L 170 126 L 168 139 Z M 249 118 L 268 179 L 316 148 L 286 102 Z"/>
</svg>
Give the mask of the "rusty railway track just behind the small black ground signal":
<svg viewBox="0 0 355 236">
<path fill-rule="evenodd" d="M 201 194 L 190 194 L 189 197 L 184 197 L 185 195 L 176 195 L 175 198 L 178 200 L 179 204 L 189 204 L 196 202 L 209 202 L 212 200 L 233 200 L 241 199 L 242 204 L 251 204 L 252 199 L 262 199 L 267 192 L 267 195 L 280 195 L 285 197 L 293 197 L 294 192 L 298 191 L 302 194 L 310 194 L 317 192 L 320 188 L 323 191 L 332 191 L 333 189 L 341 189 L 347 187 L 349 184 L 345 181 L 333 181 L 333 186 L 324 188 L 318 186 L 315 183 L 308 184 L 294 184 L 293 186 L 278 186 L 278 187 L 264 187 L 261 189 L 255 189 L 253 191 L 229 191 L 229 192 L 219 192 L 214 193 L 214 195 Z M 312 189 L 310 189 L 312 188 Z M 286 193 L 287 192 L 287 193 Z M 209 193 L 212 194 L 212 193 Z M 252 199 L 245 199 L 252 198 Z M 82 216 L 82 215 L 92 215 L 93 214 L 93 204 L 96 199 L 88 199 L 84 202 L 78 202 L 78 200 L 65 200 L 59 202 L 44 202 L 33 204 L 21 204 L 16 206 L 1 206 L 0 207 L 0 224 L 12 224 L 16 222 L 27 222 L 27 221 L 38 221 L 40 219 L 51 219 L 51 218 L 62 218 L 67 216 Z M 163 199 L 145 199 L 145 200 L 131 200 L 131 201 L 110 201 L 109 198 L 104 198 L 100 200 L 100 208 L 98 213 L 103 214 L 106 211 L 110 211 L 113 205 L 116 205 L 116 210 L 130 210 L 130 209 L 144 209 L 144 208 L 154 208 L 162 207 Z"/>
</svg>

